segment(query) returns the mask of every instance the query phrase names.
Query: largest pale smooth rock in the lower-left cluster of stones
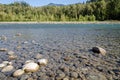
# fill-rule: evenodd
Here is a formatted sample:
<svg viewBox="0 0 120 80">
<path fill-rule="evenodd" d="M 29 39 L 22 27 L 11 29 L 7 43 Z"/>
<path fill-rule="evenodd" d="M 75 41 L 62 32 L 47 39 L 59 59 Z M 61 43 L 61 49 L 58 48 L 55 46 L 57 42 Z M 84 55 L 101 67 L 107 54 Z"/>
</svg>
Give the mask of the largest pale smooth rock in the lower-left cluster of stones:
<svg viewBox="0 0 120 80">
<path fill-rule="evenodd" d="M 27 63 L 23 66 L 25 72 L 36 72 L 39 69 L 39 65 L 34 62 Z"/>
</svg>

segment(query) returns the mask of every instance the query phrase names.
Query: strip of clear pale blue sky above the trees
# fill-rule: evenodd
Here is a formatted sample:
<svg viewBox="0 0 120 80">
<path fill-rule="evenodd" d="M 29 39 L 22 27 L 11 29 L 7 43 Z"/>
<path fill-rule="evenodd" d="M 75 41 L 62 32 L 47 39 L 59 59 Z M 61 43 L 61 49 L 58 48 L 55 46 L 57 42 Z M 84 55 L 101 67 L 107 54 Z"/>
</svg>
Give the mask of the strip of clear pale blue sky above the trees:
<svg viewBox="0 0 120 80">
<path fill-rule="evenodd" d="M 2 4 L 9 4 L 15 1 L 25 1 L 31 6 L 44 6 L 49 3 L 55 3 L 55 4 L 74 4 L 74 3 L 83 3 L 86 2 L 86 0 L 0 0 L 0 3 Z"/>
</svg>

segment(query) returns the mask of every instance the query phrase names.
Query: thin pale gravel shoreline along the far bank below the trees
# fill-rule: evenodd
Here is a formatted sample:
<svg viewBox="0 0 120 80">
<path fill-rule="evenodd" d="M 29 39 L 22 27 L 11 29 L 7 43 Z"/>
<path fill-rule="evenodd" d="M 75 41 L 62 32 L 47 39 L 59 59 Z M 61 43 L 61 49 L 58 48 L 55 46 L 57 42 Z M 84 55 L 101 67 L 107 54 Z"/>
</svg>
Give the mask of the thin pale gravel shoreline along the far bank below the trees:
<svg viewBox="0 0 120 80">
<path fill-rule="evenodd" d="M 0 24 L 120 24 L 120 21 L 83 21 L 83 22 L 58 22 L 58 21 L 48 21 L 48 22 L 0 22 Z"/>
</svg>

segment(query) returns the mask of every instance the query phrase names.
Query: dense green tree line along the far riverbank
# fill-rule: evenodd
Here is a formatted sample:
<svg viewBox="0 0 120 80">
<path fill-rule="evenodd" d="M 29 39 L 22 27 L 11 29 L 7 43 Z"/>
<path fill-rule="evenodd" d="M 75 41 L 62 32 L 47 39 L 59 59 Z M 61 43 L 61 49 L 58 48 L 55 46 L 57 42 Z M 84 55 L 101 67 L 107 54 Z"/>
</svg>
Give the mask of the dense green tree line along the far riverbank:
<svg viewBox="0 0 120 80">
<path fill-rule="evenodd" d="M 32 7 L 26 2 L 0 4 L 0 21 L 120 20 L 120 0 L 88 0 L 67 6 Z"/>
</svg>

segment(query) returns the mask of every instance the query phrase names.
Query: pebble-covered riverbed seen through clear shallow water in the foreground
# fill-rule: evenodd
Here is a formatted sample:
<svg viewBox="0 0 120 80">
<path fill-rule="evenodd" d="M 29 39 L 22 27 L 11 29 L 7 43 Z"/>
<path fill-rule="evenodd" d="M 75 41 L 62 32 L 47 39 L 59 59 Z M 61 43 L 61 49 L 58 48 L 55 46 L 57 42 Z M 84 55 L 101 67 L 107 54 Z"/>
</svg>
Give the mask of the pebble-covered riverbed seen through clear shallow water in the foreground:
<svg viewBox="0 0 120 80">
<path fill-rule="evenodd" d="M 8 61 L 12 67 L 7 72 L 0 67 L 0 80 L 119 80 L 120 37 L 113 35 L 116 31 L 108 31 L 106 36 L 97 30 L 94 31 L 97 34 L 76 29 L 77 33 L 62 30 L 62 33 L 54 31 L 54 34 L 48 31 L 51 33 L 47 37 L 37 34 L 35 39 L 23 39 L 25 33 L 1 35 L 0 64 Z M 106 54 L 94 53 L 94 46 L 102 47 Z M 26 61 L 38 64 L 39 59 L 48 62 L 35 72 L 13 75 Z"/>
</svg>

